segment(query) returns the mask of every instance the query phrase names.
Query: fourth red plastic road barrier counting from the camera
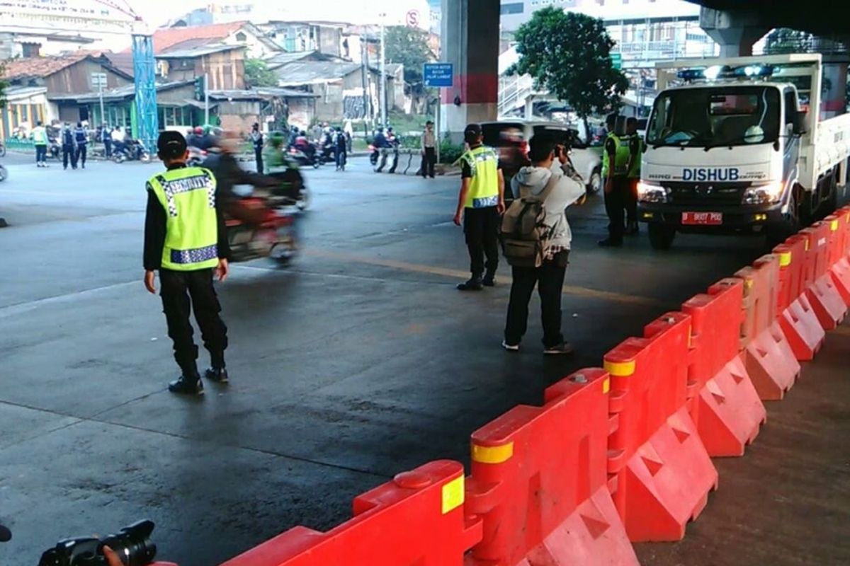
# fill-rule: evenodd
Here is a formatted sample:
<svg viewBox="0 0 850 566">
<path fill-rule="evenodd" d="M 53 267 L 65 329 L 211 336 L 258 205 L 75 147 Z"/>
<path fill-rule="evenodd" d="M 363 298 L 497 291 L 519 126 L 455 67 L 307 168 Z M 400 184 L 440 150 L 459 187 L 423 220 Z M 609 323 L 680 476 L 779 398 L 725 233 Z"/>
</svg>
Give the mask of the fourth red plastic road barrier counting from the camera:
<svg viewBox="0 0 850 566">
<path fill-rule="evenodd" d="M 768 415 L 740 359 L 744 283 L 723 279 L 682 310 L 691 317 L 690 414 L 710 456 L 743 456 Z"/>
</svg>

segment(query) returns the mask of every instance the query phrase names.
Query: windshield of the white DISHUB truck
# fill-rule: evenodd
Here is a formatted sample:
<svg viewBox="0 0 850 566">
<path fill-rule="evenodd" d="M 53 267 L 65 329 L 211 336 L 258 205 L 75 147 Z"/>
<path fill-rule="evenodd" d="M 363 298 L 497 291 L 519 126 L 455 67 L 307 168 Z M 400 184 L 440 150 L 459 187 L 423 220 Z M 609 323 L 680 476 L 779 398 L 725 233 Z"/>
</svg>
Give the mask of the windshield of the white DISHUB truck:
<svg viewBox="0 0 850 566">
<path fill-rule="evenodd" d="M 712 148 L 773 143 L 779 137 L 779 89 L 683 88 L 655 99 L 646 141 L 659 147 Z"/>
</svg>

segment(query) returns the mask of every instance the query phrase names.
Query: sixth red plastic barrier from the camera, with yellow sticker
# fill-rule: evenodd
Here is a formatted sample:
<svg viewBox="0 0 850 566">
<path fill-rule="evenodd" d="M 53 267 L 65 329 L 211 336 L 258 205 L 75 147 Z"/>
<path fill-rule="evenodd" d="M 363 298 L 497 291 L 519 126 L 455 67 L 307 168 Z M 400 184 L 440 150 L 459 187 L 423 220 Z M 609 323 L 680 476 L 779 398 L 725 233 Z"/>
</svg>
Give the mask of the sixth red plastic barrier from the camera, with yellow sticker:
<svg viewBox="0 0 850 566">
<path fill-rule="evenodd" d="M 800 361 L 813 360 L 826 336 L 806 293 L 807 246 L 808 238 L 797 234 L 774 248 L 779 258 L 779 327 Z"/>
</svg>

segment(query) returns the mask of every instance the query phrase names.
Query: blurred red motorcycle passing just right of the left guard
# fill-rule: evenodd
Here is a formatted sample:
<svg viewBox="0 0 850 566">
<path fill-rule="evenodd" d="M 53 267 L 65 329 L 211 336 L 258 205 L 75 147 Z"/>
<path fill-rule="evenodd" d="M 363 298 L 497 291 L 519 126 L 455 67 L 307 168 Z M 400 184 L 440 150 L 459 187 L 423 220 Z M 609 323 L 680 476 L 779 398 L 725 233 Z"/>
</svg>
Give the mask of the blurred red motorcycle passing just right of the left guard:
<svg viewBox="0 0 850 566">
<path fill-rule="evenodd" d="M 248 197 L 241 204 L 252 208 L 268 208 L 259 226 L 225 217 L 231 261 L 252 261 L 263 257 L 286 266 L 297 255 L 297 213 L 289 196 L 272 193 L 265 197 Z"/>
</svg>

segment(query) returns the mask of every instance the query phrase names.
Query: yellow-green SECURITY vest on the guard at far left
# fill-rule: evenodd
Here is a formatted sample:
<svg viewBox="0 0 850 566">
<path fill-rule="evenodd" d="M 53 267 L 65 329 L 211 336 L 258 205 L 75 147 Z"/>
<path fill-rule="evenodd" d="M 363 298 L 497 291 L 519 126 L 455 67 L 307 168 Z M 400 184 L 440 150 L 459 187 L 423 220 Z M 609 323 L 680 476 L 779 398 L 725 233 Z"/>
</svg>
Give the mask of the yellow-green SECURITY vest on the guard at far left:
<svg viewBox="0 0 850 566">
<path fill-rule="evenodd" d="M 162 267 L 192 272 L 218 266 L 216 182 L 201 167 L 165 171 L 148 181 L 148 188 L 166 211 Z"/>
</svg>

